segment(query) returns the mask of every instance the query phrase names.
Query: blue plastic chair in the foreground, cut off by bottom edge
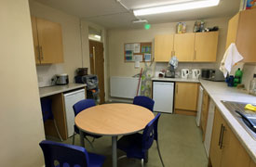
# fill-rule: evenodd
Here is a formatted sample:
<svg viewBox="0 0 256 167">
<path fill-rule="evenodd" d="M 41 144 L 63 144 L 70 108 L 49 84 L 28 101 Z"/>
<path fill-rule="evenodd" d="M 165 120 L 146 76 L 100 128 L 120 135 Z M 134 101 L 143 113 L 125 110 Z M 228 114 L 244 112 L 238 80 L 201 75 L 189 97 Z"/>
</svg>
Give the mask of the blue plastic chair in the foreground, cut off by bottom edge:
<svg viewBox="0 0 256 167">
<path fill-rule="evenodd" d="M 105 157 L 86 148 L 43 140 L 40 142 L 46 167 L 101 167 Z"/>
</svg>

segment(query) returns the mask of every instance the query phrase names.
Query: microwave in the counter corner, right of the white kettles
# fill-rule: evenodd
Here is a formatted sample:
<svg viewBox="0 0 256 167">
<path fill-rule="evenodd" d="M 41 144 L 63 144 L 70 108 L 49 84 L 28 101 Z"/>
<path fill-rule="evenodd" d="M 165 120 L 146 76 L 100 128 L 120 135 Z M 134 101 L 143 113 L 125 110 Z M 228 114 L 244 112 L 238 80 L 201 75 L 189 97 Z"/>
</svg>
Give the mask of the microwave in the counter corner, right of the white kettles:
<svg viewBox="0 0 256 167">
<path fill-rule="evenodd" d="M 222 82 L 225 81 L 222 71 L 213 69 L 202 69 L 201 78 L 204 80 Z"/>
</svg>

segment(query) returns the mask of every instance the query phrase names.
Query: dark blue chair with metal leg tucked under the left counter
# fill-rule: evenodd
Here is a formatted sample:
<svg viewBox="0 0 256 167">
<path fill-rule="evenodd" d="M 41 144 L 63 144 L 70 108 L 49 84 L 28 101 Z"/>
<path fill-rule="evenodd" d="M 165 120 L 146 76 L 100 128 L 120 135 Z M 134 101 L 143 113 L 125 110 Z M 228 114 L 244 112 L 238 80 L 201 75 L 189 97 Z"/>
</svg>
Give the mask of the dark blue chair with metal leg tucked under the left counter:
<svg viewBox="0 0 256 167">
<path fill-rule="evenodd" d="M 43 97 L 40 99 L 40 101 L 41 101 L 41 109 L 43 113 L 43 121 L 46 122 L 47 120 L 52 120 L 56 128 L 57 134 L 59 135 L 61 141 L 63 141 L 61 134 L 59 132 L 58 126 L 56 124 L 56 121 L 53 117 L 53 113 L 51 109 L 52 100 L 48 97 Z"/>
</svg>

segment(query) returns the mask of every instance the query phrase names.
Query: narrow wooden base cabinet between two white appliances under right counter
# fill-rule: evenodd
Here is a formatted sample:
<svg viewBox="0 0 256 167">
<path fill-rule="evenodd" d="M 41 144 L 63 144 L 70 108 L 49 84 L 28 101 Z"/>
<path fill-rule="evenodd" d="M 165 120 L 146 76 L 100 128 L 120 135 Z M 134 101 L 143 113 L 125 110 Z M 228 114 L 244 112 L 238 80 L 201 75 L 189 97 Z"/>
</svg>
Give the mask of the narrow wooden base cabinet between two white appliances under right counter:
<svg viewBox="0 0 256 167">
<path fill-rule="evenodd" d="M 201 119 L 200 124 L 203 132 L 203 141 L 205 140 L 205 135 L 206 135 L 208 113 L 209 113 L 209 95 L 207 91 L 204 90 L 202 111 L 201 111 L 201 117 L 200 117 Z"/>
</svg>

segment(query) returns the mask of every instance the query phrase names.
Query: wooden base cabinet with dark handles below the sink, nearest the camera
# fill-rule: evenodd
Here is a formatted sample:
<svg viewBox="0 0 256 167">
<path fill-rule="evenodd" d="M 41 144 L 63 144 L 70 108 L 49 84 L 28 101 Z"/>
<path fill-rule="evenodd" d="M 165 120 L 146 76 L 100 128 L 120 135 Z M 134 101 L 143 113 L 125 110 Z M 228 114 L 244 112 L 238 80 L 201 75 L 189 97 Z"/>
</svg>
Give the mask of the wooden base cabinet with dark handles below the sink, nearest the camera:
<svg viewBox="0 0 256 167">
<path fill-rule="evenodd" d="M 215 110 L 209 159 L 213 167 L 249 167 L 250 157 L 236 135 Z"/>
</svg>

